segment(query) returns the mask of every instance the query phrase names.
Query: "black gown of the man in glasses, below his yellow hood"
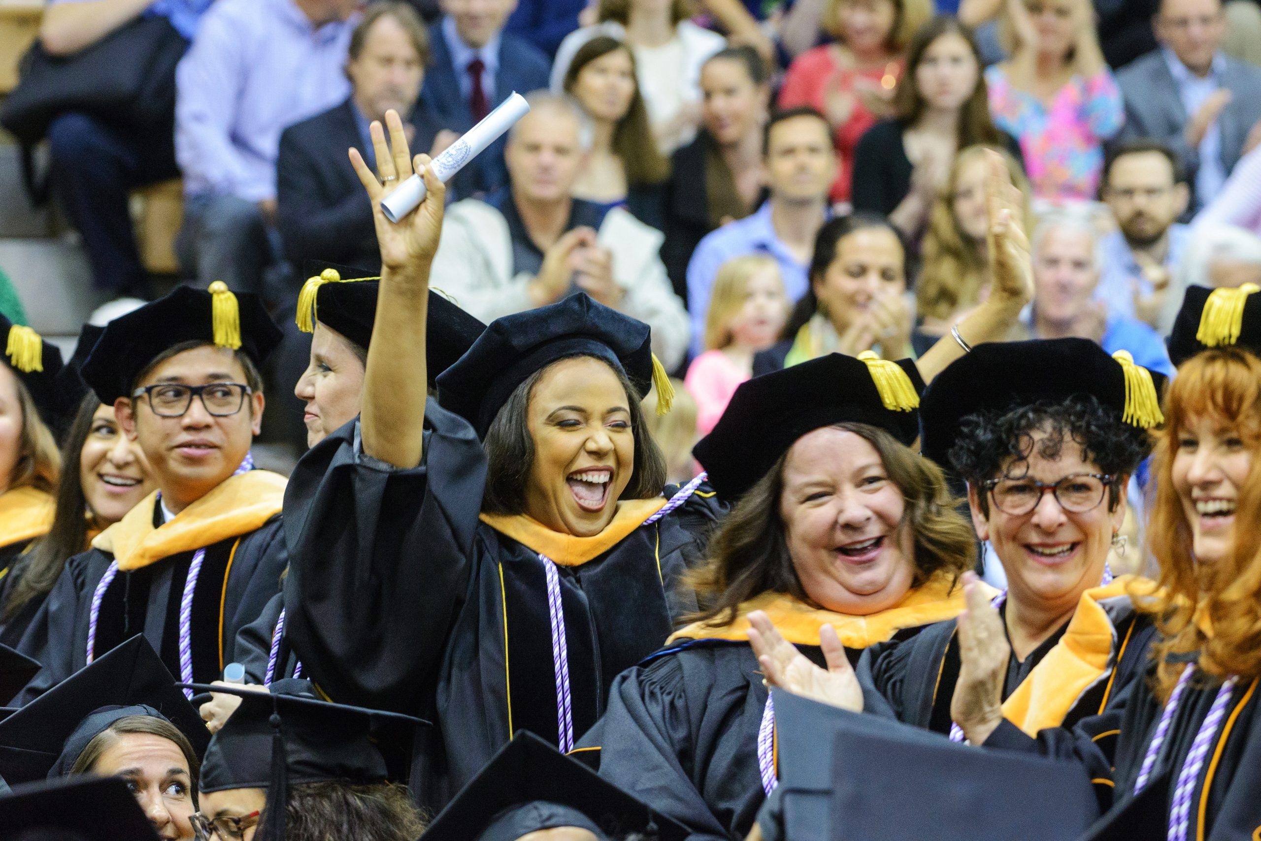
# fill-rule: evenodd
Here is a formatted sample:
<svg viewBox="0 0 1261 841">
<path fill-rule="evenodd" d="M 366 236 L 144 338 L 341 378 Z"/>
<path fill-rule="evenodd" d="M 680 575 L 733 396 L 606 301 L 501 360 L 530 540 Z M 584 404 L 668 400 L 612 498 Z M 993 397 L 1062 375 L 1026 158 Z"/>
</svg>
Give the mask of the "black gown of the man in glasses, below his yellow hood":
<svg viewBox="0 0 1261 841">
<path fill-rule="evenodd" d="M 154 517 L 155 526 L 161 522 L 156 500 L 141 502 L 137 509 Z M 96 656 L 142 632 L 170 672 L 180 674 L 180 597 L 194 554 L 195 549 L 180 551 L 117 573 L 101 601 Z M 90 549 L 66 562 L 66 569 L 18 646 L 44 666 L 18 695 L 18 705 L 34 700 L 87 665 L 92 597 L 112 560 L 111 553 Z M 190 619 L 195 682 L 222 677 L 223 666 L 233 660 L 237 633 L 280 590 L 286 563 L 279 514 L 253 531 L 206 546 Z"/>
</svg>

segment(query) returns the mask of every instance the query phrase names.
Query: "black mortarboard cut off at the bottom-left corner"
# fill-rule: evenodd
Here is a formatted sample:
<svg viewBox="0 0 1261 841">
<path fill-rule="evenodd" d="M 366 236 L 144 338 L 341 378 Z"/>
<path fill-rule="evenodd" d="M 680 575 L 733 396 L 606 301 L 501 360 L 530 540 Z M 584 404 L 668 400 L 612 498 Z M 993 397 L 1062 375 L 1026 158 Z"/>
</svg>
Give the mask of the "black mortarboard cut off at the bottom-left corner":
<svg viewBox="0 0 1261 841">
<path fill-rule="evenodd" d="M 119 777 L 72 777 L 19 786 L 0 797 L 0 841 L 158 841 Z"/>
</svg>

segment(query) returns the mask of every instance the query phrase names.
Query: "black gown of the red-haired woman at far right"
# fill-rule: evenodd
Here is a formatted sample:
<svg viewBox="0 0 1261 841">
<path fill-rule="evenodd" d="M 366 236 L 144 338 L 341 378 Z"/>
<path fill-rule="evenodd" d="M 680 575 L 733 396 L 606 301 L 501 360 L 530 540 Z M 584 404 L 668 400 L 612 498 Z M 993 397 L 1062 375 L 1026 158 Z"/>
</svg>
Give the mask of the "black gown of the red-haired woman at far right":
<svg viewBox="0 0 1261 841">
<path fill-rule="evenodd" d="M 1151 691 L 1153 671 L 1154 666 L 1149 665 L 1142 679 L 1131 681 L 1126 687 L 1121 703 L 1102 715 L 1082 720 L 1073 729 L 1047 729 L 1039 731 L 1037 739 L 1030 739 L 1004 720 L 986 739 L 985 748 L 1026 750 L 1077 760 L 1100 783 L 1096 788 L 1111 796 L 1112 808 L 1124 808 L 1134 798 L 1135 781 L 1164 711 L 1164 705 Z M 1158 816 L 1163 825 L 1168 825 L 1174 782 L 1221 686 L 1216 680 L 1203 684 L 1198 680 L 1183 692 L 1151 772 L 1151 779 L 1170 774 L 1169 794 L 1161 799 L 1163 813 Z M 1188 838 L 1227 841 L 1261 837 L 1261 711 L 1257 709 L 1261 700 L 1257 682 L 1257 677 L 1241 680 L 1231 692 L 1226 714 L 1209 743 L 1190 794 Z M 1106 733 L 1117 734 L 1115 758 L 1106 745 L 1100 744 L 1098 735 Z M 1120 835 L 1113 837 L 1127 837 L 1124 828 L 1124 825 L 1117 826 Z"/>
</svg>

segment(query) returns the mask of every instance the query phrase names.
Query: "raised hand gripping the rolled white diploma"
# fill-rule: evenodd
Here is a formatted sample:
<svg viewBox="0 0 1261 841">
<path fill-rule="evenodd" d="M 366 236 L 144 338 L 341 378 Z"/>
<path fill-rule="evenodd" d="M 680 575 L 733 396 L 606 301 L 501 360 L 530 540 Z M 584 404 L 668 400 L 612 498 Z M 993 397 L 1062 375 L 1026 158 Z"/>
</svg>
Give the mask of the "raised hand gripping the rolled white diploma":
<svg viewBox="0 0 1261 841">
<path fill-rule="evenodd" d="M 430 170 L 427 155 L 417 155 L 412 161 L 407 135 L 397 111 L 392 108 L 386 111 L 386 127 L 390 131 L 388 144 L 386 144 L 386 130 L 380 122 L 373 120 L 368 127 L 380 179 L 372 174 L 357 149 L 349 152 L 351 165 L 372 200 L 372 218 L 377 229 L 377 244 L 381 247 L 382 274 L 424 276 L 427 279 L 429 266 L 438 252 L 438 239 L 443 233 L 446 185 Z M 414 171 L 424 172 L 425 189 L 429 194 L 405 219 L 398 223 L 390 222 L 381 210 L 381 201 L 398 189 Z"/>
</svg>

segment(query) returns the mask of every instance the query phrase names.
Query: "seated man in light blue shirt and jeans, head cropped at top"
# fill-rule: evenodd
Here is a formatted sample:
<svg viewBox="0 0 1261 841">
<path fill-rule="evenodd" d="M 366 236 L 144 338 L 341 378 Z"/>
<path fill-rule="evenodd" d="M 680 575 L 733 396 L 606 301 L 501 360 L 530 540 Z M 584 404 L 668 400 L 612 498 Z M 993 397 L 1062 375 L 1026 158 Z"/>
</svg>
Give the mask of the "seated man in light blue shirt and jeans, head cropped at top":
<svg viewBox="0 0 1261 841">
<path fill-rule="evenodd" d="M 276 155 L 290 125 L 349 94 L 358 0 L 217 0 L 175 73 L 175 155 L 184 172 L 180 269 L 267 293 L 280 254 Z"/>
</svg>

